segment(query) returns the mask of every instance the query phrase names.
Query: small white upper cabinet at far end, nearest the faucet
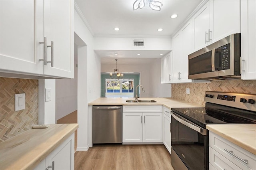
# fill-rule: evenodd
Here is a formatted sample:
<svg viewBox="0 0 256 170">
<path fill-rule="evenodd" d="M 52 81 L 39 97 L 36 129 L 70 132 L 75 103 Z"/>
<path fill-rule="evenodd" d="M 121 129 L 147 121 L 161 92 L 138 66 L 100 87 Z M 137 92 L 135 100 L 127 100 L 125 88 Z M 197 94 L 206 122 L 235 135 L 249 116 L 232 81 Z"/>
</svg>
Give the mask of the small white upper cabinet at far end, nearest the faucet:
<svg viewBox="0 0 256 170">
<path fill-rule="evenodd" d="M 172 52 L 161 58 L 161 83 L 172 83 Z"/>
</svg>

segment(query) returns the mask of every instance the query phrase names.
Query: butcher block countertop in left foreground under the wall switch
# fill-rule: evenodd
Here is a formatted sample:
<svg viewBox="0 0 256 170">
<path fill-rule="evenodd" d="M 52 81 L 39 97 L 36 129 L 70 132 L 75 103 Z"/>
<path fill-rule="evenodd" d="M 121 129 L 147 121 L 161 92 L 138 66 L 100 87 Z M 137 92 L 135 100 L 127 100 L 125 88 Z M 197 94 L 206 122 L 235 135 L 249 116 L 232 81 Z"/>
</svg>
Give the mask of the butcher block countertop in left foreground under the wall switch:
<svg viewBox="0 0 256 170">
<path fill-rule="evenodd" d="M 31 128 L 0 143 L 0 169 L 35 168 L 78 128 L 78 124 L 52 124 Z"/>
</svg>

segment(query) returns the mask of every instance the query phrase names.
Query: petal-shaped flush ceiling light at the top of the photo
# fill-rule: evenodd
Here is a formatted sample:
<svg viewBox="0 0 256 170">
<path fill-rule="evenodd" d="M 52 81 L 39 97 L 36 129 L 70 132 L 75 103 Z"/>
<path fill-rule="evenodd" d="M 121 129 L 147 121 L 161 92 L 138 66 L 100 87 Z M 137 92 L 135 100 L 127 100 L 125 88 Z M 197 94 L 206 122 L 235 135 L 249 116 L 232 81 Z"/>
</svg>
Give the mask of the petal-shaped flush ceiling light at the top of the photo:
<svg viewBox="0 0 256 170">
<path fill-rule="evenodd" d="M 149 7 L 152 10 L 156 10 L 156 11 L 160 11 L 161 7 L 163 6 L 162 2 L 160 1 L 155 1 L 155 0 L 136 0 L 133 3 L 133 10 L 137 10 L 137 9 L 142 9 L 144 8 L 146 5 L 149 5 Z"/>
</svg>

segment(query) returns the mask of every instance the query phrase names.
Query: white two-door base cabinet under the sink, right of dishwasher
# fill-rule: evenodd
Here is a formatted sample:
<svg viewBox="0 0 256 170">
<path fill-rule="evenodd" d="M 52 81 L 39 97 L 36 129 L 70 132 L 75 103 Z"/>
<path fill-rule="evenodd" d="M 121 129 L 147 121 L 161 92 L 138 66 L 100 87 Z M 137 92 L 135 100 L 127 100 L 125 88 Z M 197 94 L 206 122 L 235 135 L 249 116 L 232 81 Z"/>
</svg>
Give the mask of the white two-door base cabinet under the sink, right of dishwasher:
<svg viewBox="0 0 256 170">
<path fill-rule="evenodd" d="M 163 142 L 162 106 L 123 106 L 123 143 Z"/>
</svg>

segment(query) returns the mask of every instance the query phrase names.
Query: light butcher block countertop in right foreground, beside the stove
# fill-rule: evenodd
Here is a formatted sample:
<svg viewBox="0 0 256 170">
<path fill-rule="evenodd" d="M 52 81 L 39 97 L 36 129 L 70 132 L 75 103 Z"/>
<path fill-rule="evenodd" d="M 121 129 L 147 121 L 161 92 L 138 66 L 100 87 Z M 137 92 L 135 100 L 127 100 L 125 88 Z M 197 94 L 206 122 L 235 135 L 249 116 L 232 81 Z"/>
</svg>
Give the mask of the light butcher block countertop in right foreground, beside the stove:
<svg viewBox="0 0 256 170">
<path fill-rule="evenodd" d="M 256 125 L 206 125 L 206 128 L 222 138 L 256 155 Z"/>
</svg>

